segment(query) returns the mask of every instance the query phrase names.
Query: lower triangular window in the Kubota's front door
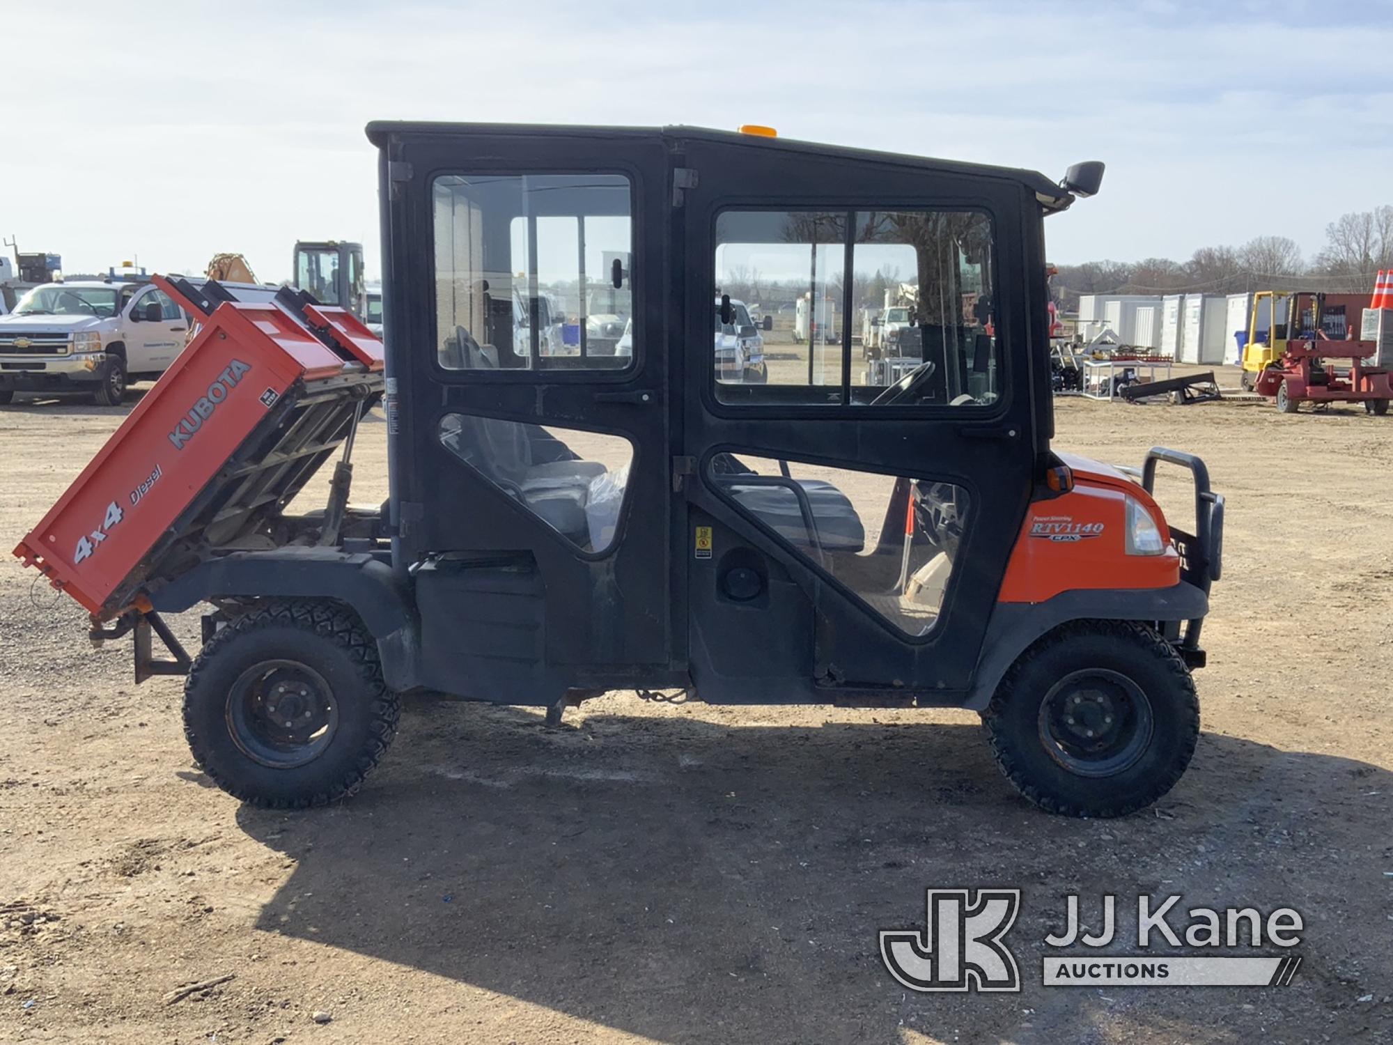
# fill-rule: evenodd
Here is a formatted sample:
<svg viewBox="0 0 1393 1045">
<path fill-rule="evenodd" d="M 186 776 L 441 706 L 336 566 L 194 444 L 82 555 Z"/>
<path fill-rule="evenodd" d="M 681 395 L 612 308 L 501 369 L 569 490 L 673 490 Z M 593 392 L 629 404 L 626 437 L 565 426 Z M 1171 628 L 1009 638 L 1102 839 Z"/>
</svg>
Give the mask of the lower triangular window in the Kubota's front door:
<svg viewBox="0 0 1393 1045">
<path fill-rule="evenodd" d="M 964 488 L 744 453 L 712 457 L 708 479 L 886 623 L 933 628 L 971 521 Z"/>
</svg>

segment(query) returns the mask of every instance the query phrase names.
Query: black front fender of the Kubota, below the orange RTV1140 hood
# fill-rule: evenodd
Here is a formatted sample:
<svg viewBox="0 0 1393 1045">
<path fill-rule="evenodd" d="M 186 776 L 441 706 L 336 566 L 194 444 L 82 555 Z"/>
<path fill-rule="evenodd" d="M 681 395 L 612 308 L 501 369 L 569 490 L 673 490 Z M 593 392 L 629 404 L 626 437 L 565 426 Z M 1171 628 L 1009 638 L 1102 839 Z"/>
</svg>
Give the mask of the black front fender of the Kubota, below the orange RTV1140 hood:
<svg viewBox="0 0 1393 1045">
<path fill-rule="evenodd" d="M 1067 591 L 1045 602 L 999 602 L 992 610 L 976 673 L 961 706 L 983 711 L 1002 676 L 1031 644 L 1071 620 L 1195 621 L 1209 612 L 1209 596 L 1181 581 L 1173 588 Z"/>
</svg>

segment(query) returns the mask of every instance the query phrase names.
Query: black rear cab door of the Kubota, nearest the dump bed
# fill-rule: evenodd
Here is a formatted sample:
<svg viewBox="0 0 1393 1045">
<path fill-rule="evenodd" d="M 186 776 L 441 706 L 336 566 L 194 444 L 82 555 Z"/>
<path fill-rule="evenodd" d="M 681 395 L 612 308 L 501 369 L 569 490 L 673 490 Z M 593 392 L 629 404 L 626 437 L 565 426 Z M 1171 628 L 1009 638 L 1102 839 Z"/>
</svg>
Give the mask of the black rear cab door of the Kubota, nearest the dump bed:
<svg viewBox="0 0 1393 1045">
<path fill-rule="evenodd" d="M 671 658 L 657 135 L 373 125 L 389 454 L 425 677 L 490 699 Z M 645 279 L 646 277 L 646 279 Z M 513 687 L 513 688 L 508 688 Z M 524 691 L 525 690 L 525 691 Z"/>
</svg>

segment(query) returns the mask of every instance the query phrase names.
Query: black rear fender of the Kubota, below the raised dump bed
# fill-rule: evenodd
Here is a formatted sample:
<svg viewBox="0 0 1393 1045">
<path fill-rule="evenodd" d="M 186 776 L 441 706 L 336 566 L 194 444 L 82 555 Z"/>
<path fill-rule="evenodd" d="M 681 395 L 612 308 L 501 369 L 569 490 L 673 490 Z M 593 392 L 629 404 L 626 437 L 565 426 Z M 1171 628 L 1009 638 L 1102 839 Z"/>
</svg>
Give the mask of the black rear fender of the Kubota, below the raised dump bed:
<svg viewBox="0 0 1393 1045">
<path fill-rule="evenodd" d="M 365 553 L 336 548 L 279 548 L 231 552 L 208 559 L 149 592 L 160 613 L 182 613 L 216 598 L 334 599 L 362 620 L 378 640 L 387 686 L 415 686 L 419 619 L 410 588 L 391 567 Z"/>
</svg>

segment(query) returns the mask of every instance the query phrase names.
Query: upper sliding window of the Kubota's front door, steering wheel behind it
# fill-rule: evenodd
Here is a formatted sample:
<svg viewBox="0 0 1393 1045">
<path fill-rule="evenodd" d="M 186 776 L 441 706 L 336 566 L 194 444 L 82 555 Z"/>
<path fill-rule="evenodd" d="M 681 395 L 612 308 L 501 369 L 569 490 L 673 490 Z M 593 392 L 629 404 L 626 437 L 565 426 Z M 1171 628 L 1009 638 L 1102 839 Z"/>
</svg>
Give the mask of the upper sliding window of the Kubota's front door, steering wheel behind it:
<svg viewBox="0 0 1393 1045">
<path fill-rule="evenodd" d="M 715 276 L 722 403 L 983 408 L 1000 396 L 986 213 L 727 210 Z M 755 305 L 768 323 L 742 322 Z"/>
</svg>

